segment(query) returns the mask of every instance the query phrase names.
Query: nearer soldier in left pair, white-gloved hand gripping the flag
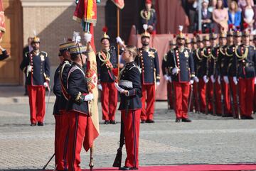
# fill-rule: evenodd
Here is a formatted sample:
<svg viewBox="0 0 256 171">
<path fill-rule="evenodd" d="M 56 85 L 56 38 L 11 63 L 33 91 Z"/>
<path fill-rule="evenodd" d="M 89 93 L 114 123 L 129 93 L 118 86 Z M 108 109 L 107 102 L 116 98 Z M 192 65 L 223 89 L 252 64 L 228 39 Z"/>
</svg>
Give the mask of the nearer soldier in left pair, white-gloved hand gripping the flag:
<svg viewBox="0 0 256 171">
<path fill-rule="evenodd" d="M 87 128 L 88 101 L 93 99 L 93 94 L 88 94 L 87 79 L 82 61 L 86 61 L 85 46 L 70 48 L 73 65 L 68 72 L 68 170 L 80 170 L 80 152 Z M 81 57 L 80 57 L 80 53 Z"/>
</svg>

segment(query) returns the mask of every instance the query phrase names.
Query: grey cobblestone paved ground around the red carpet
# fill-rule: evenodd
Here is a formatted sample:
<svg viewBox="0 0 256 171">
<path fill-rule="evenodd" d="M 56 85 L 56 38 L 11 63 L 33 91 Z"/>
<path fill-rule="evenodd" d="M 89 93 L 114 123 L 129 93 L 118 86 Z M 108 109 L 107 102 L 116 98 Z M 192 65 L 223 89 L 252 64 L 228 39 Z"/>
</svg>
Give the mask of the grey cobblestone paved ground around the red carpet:
<svg viewBox="0 0 256 171">
<path fill-rule="evenodd" d="M 27 97 L 16 97 L 18 103 L 13 96 L 12 100 L 8 98 L 0 101 L 0 170 L 39 170 L 53 155 L 53 103 L 46 114 L 46 126 L 31 127 Z M 117 121 L 119 116 L 117 112 Z M 156 123 L 142 124 L 140 128 L 140 165 L 256 162 L 255 120 L 191 114 L 192 123 L 175 123 L 174 118 L 174 112 L 166 110 L 166 102 L 156 103 Z M 95 167 L 112 165 L 119 126 L 100 124 Z M 81 156 L 82 168 L 88 168 L 89 154 L 82 150 Z M 48 168 L 53 169 L 53 165 L 52 161 Z"/>
</svg>

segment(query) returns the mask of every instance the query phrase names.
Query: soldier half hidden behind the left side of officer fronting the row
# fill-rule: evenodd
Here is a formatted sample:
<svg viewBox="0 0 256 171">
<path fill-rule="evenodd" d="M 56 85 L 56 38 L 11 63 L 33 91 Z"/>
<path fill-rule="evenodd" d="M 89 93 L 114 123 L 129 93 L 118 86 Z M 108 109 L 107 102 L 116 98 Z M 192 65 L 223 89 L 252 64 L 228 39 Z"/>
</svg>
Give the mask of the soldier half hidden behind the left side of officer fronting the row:
<svg viewBox="0 0 256 171">
<path fill-rule="evenodd" d="M 170 40 L 169 41 L 169 51 L 171 51 L 171 53 L 173 53 L 174 48 L 176 48 L 176 41 L 175 40 Z M 162 70 L 162 73 L 164 75 L 164 79 L 167 82 L 168 109 L 174 109 L 174 99 L 173 99 L 174 89 L 172 87 L 171 77 L 168 75 L 168 67 L 167 67 L 166 62 L 167 62 L 167 53 L 163 57 L 161 70 Z"/>
</svg>

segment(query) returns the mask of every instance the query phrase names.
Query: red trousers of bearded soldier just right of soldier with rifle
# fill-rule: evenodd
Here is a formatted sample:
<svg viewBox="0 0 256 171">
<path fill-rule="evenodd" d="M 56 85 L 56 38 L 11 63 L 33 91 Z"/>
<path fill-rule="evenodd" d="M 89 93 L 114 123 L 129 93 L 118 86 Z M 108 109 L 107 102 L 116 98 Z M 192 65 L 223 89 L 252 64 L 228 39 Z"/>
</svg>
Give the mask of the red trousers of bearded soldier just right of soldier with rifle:
<svg viewBox="0 0 256 171">
<path fill-rule="evenodd" d="M 156 99 L 155 84 L 142 84 L 142 120 L 153 120 L 154 101 Z"/>
</svg>

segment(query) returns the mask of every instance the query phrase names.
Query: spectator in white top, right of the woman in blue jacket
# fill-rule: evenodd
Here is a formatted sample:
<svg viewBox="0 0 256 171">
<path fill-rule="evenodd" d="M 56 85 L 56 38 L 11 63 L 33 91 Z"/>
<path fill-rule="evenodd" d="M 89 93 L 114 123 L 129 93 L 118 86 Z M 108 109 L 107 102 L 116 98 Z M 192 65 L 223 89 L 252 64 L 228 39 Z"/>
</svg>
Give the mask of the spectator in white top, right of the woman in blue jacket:
<svg viewBox="0 0 256 171">
<path fill-rule="evenodd" d="M 246 4 L 242 7 L 242 18 L 244 23 L 248 24 L 248 28 L 253 31 L 255 28 L 255 9 L 253 9 L 250 0 L 246 0 Z"/>
</svg>

